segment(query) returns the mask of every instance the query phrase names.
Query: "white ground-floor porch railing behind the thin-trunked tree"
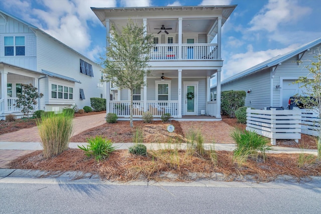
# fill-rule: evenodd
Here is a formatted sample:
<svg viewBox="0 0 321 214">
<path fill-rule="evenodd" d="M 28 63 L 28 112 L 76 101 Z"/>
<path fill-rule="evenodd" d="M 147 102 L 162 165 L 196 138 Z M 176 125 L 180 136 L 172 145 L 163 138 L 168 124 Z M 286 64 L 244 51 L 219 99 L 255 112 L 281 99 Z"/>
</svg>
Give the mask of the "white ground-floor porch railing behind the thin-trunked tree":
<svg viewBox="0 0 321 214">
<path fill-rule="evenodd" d="M 164 113 L 178 115 L 178 101 L 147 101 L 147 109 L 144 109 L 143 105 L 143 101 L 133 102 L 134 117 L 141 117 L 145 111 L 151 112 L 154 117 L 162 116 Z M 118 117 L 129 117 L 130 101 L 110 101 L 109 111 L 117 114 Z"/>
</svg>

